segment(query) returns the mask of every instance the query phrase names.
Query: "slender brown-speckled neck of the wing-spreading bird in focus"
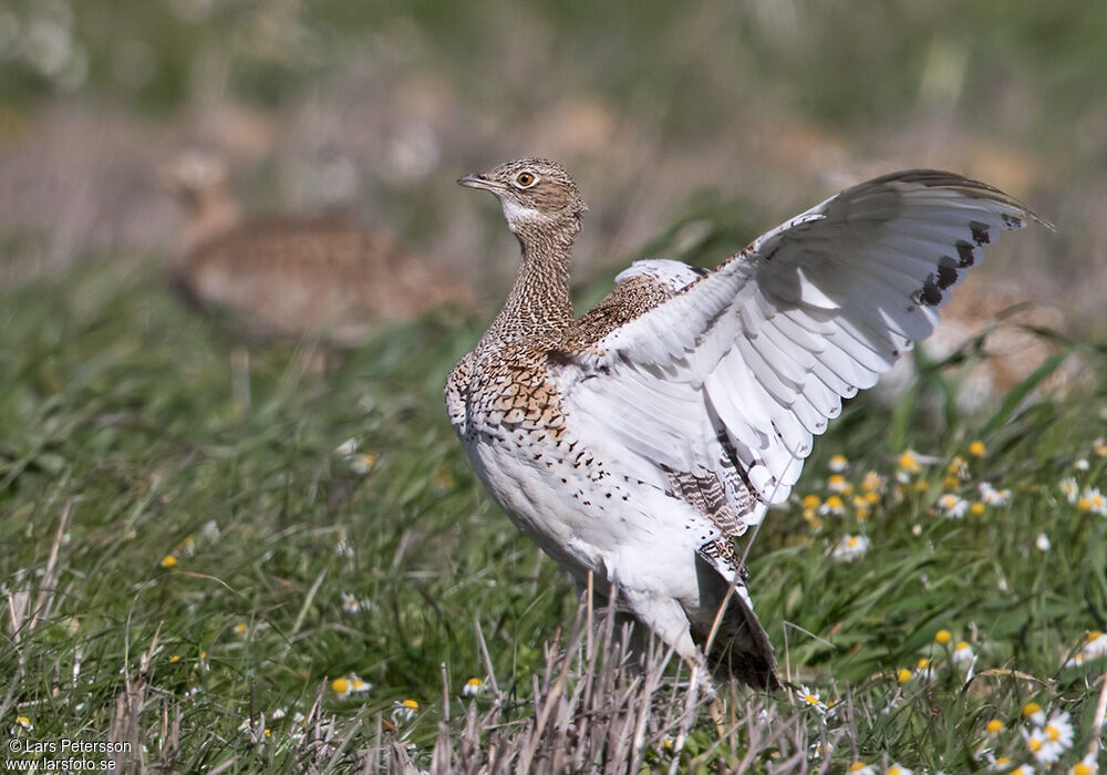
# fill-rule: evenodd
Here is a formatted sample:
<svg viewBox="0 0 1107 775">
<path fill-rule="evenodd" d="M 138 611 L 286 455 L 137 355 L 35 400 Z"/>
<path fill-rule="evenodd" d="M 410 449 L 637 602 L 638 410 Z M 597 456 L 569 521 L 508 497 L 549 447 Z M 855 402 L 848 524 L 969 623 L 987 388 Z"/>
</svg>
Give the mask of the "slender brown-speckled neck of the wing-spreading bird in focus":
<svg viewBox="0 0 1107 775">
<path fill-rule="evenodd" d="M 523 261 L 507 303 L 488 331 L 493 340 L 557 335 L 572 326 L 569 268 L 580 219 L 562 219 L 515 229 Z"/>
</svg>

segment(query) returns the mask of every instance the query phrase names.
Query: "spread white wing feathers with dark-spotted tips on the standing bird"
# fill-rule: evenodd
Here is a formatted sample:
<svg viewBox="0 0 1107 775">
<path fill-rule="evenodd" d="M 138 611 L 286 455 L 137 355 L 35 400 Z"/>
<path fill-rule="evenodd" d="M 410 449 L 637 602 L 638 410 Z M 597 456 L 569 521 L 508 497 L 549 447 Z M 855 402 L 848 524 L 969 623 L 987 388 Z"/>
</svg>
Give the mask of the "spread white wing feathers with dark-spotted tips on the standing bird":
<svg viewBox="0 0 1107 775">
<path fill-rule="evenodd" d="M 705 277 L 635 262 L 619 281 L 680 292 L 575 353 L 565 399 L 642 482 L 717 476 L 744 530 L 787 498 L 841 399 L 929 335 L 982 246 L 1026 219 L 984 184 L 913 170 L 827 199 Z"/>
</svg>

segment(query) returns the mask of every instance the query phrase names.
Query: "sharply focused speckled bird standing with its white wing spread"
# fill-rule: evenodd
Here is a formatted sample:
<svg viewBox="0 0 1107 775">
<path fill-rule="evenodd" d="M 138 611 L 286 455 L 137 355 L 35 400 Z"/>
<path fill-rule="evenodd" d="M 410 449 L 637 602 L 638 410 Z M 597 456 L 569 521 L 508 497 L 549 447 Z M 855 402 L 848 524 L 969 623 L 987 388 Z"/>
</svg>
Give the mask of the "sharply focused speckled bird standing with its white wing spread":
<svg viewBox="0 0 1107 775">
<path fill-rule="evenodd" d="M 684 659 L 776 689 L 736 539 L 788 497 L 841 400 L 933 330 L 983 247 L 1039 219 L 960 175 L 894 173 L 712 270 L 635 261 L 576 318 L 587 208 L 565 167 L 525 158 L 458 183 L 498 197 L 523 249 L 445 389 L 478 476 L 579 589 L 591 575 Z"/>
</svg>

